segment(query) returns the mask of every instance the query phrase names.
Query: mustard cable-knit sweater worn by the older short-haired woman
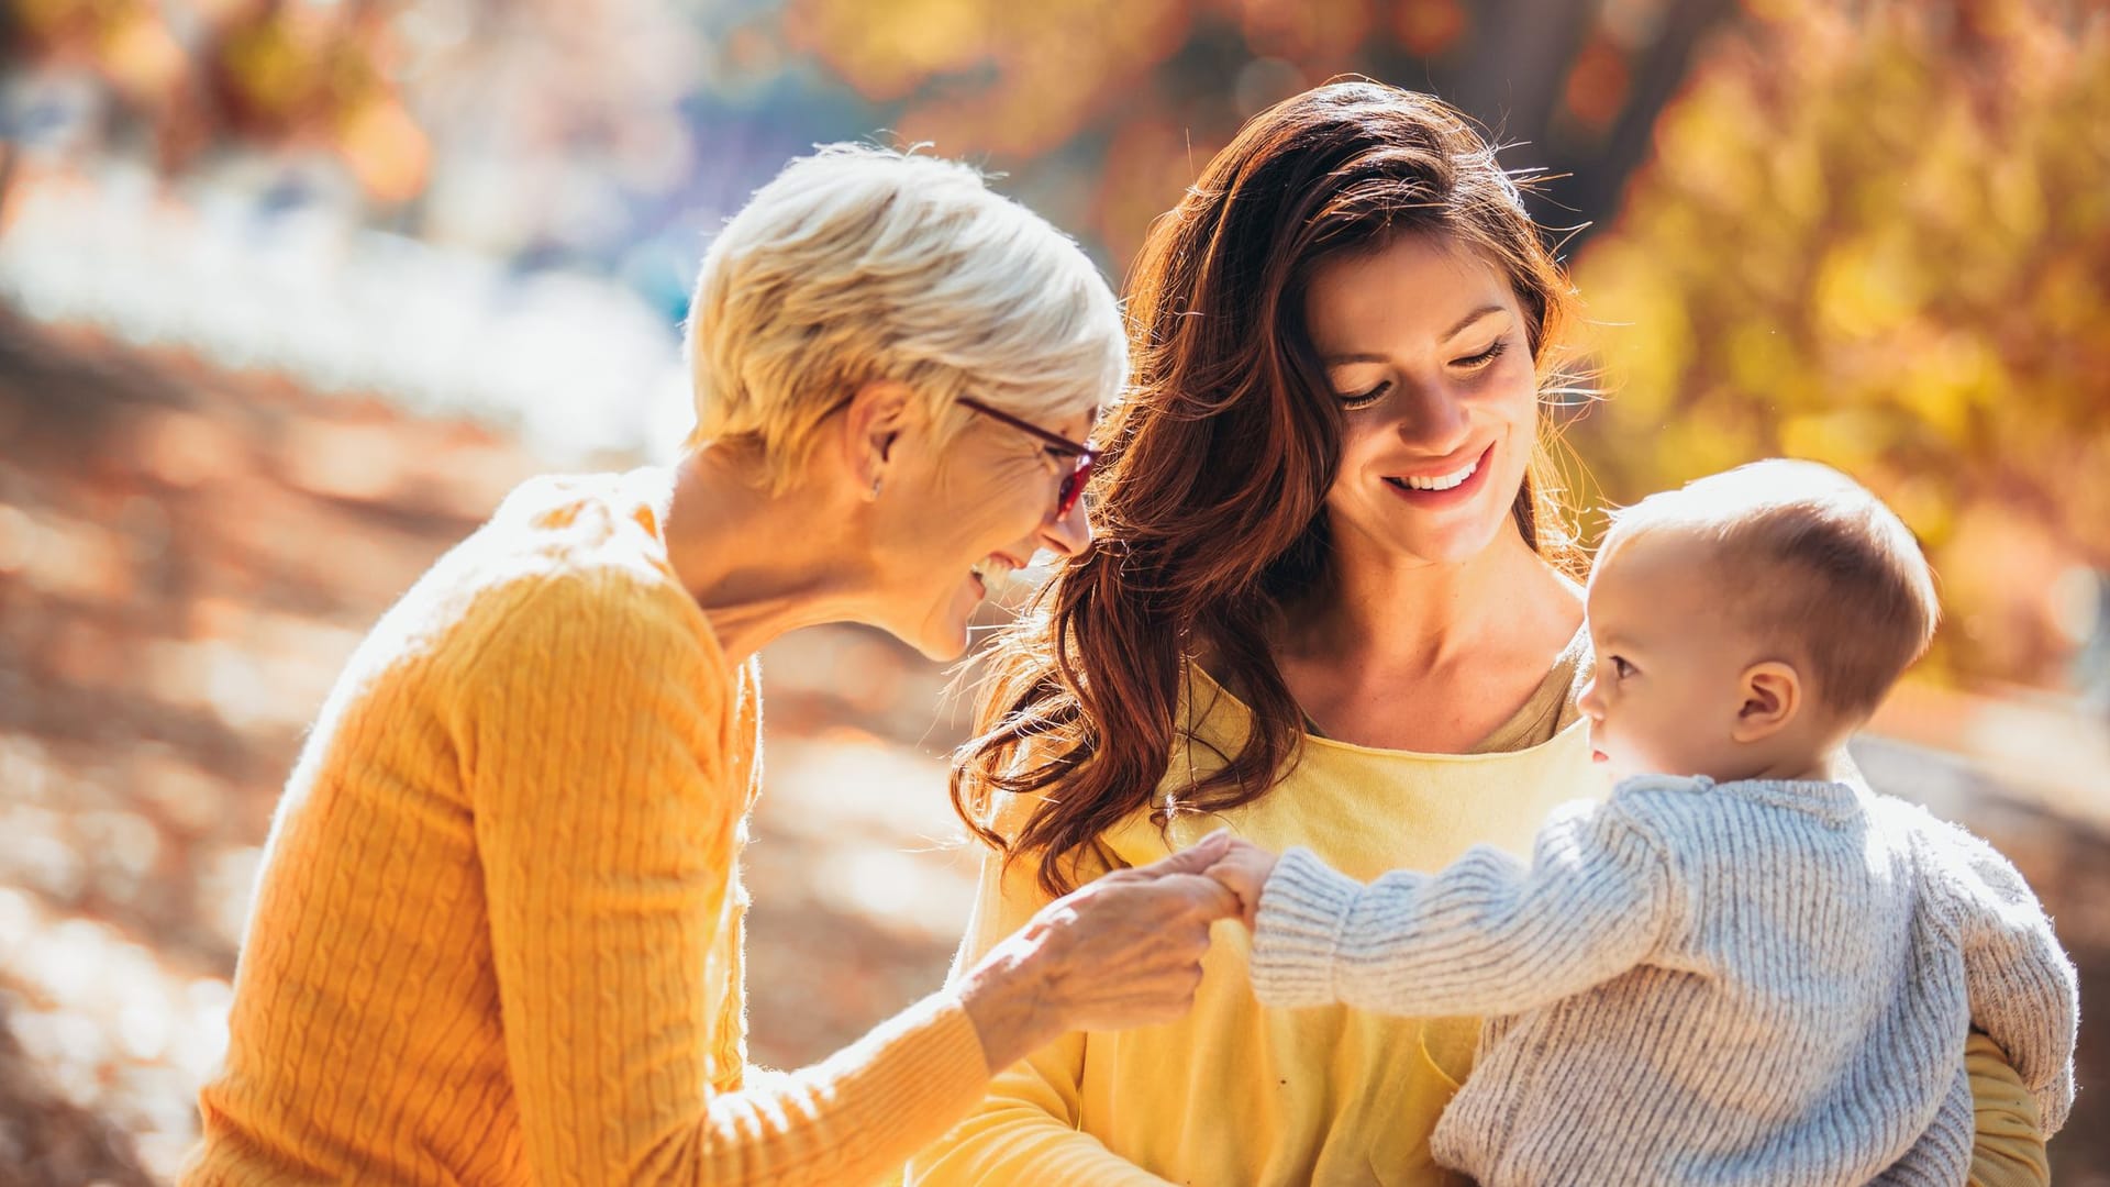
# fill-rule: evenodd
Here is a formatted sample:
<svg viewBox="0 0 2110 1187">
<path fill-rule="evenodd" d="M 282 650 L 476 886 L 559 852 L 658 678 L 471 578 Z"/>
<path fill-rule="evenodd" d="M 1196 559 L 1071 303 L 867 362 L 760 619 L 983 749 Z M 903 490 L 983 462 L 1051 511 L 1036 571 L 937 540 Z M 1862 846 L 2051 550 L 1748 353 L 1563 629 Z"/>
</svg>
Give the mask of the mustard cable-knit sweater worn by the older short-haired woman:
<svg viewBox="0 0 2110 1187">
<path fill-rule="evenodd" d="M 675 581 L 667 492 L 530 482 L 352 657 L 272 826 L 186 1185 L 867 1183 L 983 1094 L 943 993 L 747 1081 L 760 670 Z"/>
</svg>

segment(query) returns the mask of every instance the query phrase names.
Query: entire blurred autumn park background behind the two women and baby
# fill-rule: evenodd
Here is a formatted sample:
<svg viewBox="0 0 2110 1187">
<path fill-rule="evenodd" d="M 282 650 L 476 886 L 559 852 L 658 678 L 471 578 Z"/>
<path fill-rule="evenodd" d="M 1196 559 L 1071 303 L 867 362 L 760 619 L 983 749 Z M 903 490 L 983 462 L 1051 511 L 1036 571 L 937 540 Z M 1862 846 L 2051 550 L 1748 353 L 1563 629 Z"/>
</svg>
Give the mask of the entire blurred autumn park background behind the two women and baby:
<svg viewBox="0 0 2110 1187">
<path fill-rule="evenodd" d="M 669 454 L 694 262 L 789 156 L 928 142 L 1118 283 L 1340 72 L 1551 177 L 1582 503 L 1798 454 L 1918 530 L 1948 621 L 1861 760 L 2011 853 L 2110 1010 L 2106 0 L 8 0 L 0 1187 L 171 1174 L 335 667 L 511 484 Z M 789 1067 L 941 980 L 975 855 L 947 672 L 857 629 L 764 663 Z M 2076 1187 L 2099 1024 L 2080 1081 Z"/>
</svg>

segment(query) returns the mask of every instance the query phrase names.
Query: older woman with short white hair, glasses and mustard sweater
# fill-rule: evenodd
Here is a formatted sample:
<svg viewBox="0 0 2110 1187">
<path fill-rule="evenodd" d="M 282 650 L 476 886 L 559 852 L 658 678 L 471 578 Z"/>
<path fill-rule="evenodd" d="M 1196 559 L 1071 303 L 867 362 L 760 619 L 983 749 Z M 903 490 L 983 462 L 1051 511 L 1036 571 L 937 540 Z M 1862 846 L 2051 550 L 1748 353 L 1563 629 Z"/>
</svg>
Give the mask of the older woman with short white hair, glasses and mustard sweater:
<svg viewBox="0 0 2110 1187">
<path fill-rule="evenodd" d="M 711 245 L 669 469 L 538 479 L 352 657 L 272 828 L 184 1183 L 865 1183 L 1061 1033 L 1177 1016 L 1234 910 L 1106 879 L 833 1058 L 747 1077 L 755 653 L 931 657 L 1080 553 L 1123 325 L 971 169 L 833 148 Z M 810 969 L 819 982 L 829 969 Z"/>
</svg>

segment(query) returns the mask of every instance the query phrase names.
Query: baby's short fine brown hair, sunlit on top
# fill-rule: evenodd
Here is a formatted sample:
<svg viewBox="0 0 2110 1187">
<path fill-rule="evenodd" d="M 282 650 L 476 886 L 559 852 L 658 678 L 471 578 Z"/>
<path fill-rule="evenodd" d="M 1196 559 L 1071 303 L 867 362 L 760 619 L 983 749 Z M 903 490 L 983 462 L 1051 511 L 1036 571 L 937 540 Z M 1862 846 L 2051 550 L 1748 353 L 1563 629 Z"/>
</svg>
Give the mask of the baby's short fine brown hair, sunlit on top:
<svg viewBox="0 0 2110 1187">
<path fill-rule="evenodd" d="M 1650 494 L 1612 513 L 1597 564 L 1656 530 L 1713 547 L 1724 610 L 1764 638 L 1789 638 L 1815 695 L 1865 718 L 1912 667 L 1941 617 L 1935 574 L 1903 520 L 1859 482 L 1770 458 Z"/>
</svg>

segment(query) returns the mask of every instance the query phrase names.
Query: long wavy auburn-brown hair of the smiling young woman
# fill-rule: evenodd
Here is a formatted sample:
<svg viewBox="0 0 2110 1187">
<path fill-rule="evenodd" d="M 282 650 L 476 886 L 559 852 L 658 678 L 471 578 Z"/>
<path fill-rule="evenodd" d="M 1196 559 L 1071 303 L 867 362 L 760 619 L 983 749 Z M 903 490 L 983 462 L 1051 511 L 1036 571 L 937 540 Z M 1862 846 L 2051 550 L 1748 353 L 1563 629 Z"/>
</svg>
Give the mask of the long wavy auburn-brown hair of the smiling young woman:
<svg viewBox="0 0 2110 1187">
<path fill-rule="evenodd" d="M 977 737 L 952 769 L 966 826 L 1006 860 L 1040 853 L 1049 893 L 1074 889 L 1085 855 L 1110 860 L 1099 836 L 1150 805 L 1196 653 L 1253 727 L 1177 811 L 1251 803 L 1296 760 L 1304 716 L 1268 640 L 1325 577 L 1342 425 L 1304 287 L 1321 260 L 1401 234 L 1445 237 L 1507 272 L 1545 387 L 1566 281 L 1517 182 L 1441 99 L 1367 80 L 1285 99 L 1152 226 L 1129 277 L 1133 384 L 1093 475 L 1097 543 L 985 653 Z M 1572 564 L 1545 437 L 1513 515 L 1532 549 Z M 1038 798 L 1013 834 L 990 822 L 996 792 Z"/>
</svg>

